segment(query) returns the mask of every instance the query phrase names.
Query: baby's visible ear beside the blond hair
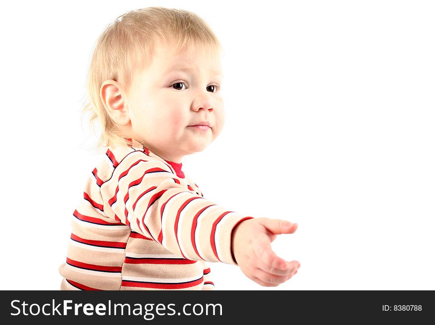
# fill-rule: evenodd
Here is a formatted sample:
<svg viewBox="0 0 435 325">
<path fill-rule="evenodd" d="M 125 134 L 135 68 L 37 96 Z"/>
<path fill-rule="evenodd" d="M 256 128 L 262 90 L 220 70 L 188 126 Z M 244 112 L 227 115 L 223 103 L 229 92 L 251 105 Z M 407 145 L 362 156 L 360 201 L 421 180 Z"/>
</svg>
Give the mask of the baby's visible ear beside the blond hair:
<svg viewBox="0 0 435 325">
<path fill-rule="evenodd" d="M 109 116 L 119 125 L 128 125 L 130 115 L 126 98 L 118 82 L 106 80 L 100 88 L 100 98 Z"/>
</svg>

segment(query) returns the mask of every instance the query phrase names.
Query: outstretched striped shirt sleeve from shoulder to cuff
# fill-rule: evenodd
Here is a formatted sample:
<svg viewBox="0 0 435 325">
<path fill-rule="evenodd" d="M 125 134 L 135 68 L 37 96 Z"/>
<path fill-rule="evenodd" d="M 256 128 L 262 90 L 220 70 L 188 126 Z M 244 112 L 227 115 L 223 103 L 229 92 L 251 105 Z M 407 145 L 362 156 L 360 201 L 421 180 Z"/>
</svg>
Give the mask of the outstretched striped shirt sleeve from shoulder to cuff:
<svg viewBox="0 0 435 325">
<path fill-rule="evenodd" d="M 189 260 L 236 264 L 231 232 L 243 216 L 199 196 L 162 161 L 128 154 L 101 187 L 104 213 Z"/>
</svg>

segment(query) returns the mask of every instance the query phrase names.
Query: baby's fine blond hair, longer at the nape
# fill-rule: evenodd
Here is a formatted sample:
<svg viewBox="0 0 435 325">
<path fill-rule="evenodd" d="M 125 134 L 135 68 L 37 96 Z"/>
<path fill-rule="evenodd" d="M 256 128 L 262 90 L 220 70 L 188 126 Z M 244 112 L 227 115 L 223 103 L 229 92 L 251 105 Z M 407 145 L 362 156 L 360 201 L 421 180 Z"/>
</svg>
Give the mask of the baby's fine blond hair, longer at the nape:
<svg viewBox="0 0 435 325">
<path fill-rule="evenodd" d="M 153 46 L 158 42 L 171 44 L 179 52 L 189 46 L 208 46 L 221 50 L 220 43 L 196 14 L 173 8 L 148 7 L 119 16 L 98 38 L 87 74 L 87 101 L 83 112 L 89 114 L 91 125 L 100 122 L 98 147 L 124 143 L 117 124 L 110 118 L 100 99 L 105 80 L 117 81 L 128 91 L 134 71 L 147 67 Z"/>
</svg>

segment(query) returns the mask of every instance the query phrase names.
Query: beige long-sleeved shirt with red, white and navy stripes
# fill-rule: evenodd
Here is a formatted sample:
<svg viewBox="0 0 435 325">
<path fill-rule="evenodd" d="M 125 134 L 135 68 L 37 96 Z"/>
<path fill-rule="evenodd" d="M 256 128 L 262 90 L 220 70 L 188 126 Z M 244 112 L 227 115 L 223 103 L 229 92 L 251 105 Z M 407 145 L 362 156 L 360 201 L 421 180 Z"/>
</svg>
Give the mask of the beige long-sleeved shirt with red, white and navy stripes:
<svg viewBox="0 0 435 325">
<path fill-rule="evenodd" d="M 206 200 L 168 162 L 128 139 L 89 176 L 72 217 L 61 290 L 208 290 L 208 262 L 236 264 L 242 216 Z"/>
</svg>

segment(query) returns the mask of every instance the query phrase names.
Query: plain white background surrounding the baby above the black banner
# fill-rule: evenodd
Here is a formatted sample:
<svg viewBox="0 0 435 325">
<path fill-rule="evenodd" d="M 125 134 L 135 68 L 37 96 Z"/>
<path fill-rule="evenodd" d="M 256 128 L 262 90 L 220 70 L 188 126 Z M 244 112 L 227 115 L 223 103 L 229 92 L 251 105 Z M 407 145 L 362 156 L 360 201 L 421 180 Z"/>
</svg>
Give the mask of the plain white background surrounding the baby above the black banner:
<svg viewBox="0 0 435 325">
<path fill-rule="evenodd" d="M 207 199 L 297 222 L 273 242 L 299 273 L 263 288 L 435 289 L 433 1 L 1 2 L 1 289 L 57 290 L 70 220 L 101 153 L 82 125 L 102 30 L 151 5 L 219 37 L 226 125 L 183 170 Z"/>
</svg>

